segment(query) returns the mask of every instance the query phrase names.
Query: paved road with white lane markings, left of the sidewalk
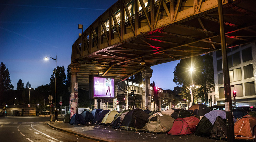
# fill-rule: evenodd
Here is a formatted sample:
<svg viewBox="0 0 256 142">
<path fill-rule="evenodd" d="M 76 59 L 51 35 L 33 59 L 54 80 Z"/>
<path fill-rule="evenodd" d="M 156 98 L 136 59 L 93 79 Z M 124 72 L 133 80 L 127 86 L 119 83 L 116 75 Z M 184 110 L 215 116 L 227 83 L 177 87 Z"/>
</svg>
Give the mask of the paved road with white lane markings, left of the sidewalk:
<svg viewBox="0 0 256 142">
<path fill-rule="evenodd" d="M 53 129 L 49 117 L 0 117 L 1 142 L 96 142 Z"/>
</svg>

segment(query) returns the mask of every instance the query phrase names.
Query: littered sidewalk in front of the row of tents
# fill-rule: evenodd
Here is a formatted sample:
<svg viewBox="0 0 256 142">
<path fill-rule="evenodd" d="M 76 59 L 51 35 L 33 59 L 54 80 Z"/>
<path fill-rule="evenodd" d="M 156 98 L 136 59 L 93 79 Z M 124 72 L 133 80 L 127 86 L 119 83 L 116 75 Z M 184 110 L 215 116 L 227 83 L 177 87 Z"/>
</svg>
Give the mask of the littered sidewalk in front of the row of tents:
<svg viewBox="0 0 256 142">
<path fill-rule="evenodd" d="M 100 141 L 100 142 L 156 142 L 156 141 L 179 141 L 179 142 L 218 142 L 223 140 L 207 139 L 198 137 L 194 134 L 191 135 L 167 135 L 167 134 L 154 134 L 145 132 L 134 132 L 120 129 L 111 128 L 111 126 L 104 126 L 98 124 L 90 125 L 70 125 L 68 123 L 47 122 L 47 125 L 67 133 L 75 134 L 80 137 Z"/>
</svg>

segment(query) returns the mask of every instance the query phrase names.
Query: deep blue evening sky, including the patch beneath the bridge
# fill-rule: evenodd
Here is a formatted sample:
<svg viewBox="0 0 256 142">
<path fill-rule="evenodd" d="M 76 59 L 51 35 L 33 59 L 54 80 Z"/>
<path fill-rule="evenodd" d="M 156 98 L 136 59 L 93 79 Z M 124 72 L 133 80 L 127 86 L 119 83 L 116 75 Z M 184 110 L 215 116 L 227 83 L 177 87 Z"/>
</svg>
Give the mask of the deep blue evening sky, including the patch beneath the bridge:
<svg viewBox="0 0 256 142">
<path fill-rule="evenodd" d="M 117 0 L 2 0 L 0 1 L 0 62 L 16 88 L 19 79 L 32 88 L 50 82 L 55 60 L 65 70 L 71 62 L 78 24 L 84 30 Z M 173 70 L 179 61 L 152 66 L 151 82 L 163 89 L 177 86 Z"/>
</svg>

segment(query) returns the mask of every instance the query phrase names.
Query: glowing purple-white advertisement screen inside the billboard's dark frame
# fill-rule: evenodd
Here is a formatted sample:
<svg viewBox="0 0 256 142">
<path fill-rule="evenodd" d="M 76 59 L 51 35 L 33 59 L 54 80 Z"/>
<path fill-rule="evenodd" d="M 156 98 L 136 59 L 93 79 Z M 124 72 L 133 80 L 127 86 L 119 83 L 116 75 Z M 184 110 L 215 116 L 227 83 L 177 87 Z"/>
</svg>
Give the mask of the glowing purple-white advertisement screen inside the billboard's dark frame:
<svg viewBox="0 0 256 142">
<path fill-rule="evenodd" d="M 93 97 L 114 98 L 115 80 L 114 78 L 93 77 Z"/>
</svg>

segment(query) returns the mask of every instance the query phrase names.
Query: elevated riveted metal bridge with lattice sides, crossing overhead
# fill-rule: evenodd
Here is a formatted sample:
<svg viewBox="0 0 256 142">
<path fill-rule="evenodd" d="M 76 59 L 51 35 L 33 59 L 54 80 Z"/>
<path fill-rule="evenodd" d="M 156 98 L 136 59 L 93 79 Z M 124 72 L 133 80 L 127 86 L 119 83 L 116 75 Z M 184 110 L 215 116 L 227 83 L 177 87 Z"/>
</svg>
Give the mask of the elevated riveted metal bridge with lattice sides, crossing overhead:
<svg viewBox="0 0 256 142">
<path fill-rule="evenodd" d="M 255 7 L 254 0 L 223 0 L 228 48 L 255 42 Z M 153 65 L 220 49 L 217 0 L 118 0 L 74 42 L 70 68 L 88 90 L 92 74 L 115 76 L 117 83 Z"/>
</svg>

